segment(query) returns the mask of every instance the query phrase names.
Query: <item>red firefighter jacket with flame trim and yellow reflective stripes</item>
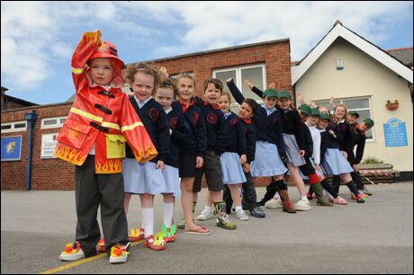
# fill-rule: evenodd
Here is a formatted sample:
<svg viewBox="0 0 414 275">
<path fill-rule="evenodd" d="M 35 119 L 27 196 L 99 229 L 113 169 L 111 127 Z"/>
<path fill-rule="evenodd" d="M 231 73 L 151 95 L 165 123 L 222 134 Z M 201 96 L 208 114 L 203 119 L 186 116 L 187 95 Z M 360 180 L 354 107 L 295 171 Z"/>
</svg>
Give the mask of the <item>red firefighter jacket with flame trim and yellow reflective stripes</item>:
<svg viewBox="0 0 414 275">
<path fill-rule="evenodd" d="M 130 145 L 138 162 L 154 158 L 157 149 L 127 95 L 121 92 L 123 81 L 120 84 L 121 78 L 118 77 L 121 76 L 121 67 L 115 67 L 118 81 L 113 81 L 107 91 L 100 85 L 91 85 L 86 62 L 101 45 L 98 32 L 85 32 L 73 54 L 72 76 L 76 98 L 60 129 L 54 154 L 71 164 L 82 165 L 92 146 L 95 146 L 95 173 L 121 173 L 125 142 Z M 149 157 L 143 159 L 143 155 Z"/>
</svg>

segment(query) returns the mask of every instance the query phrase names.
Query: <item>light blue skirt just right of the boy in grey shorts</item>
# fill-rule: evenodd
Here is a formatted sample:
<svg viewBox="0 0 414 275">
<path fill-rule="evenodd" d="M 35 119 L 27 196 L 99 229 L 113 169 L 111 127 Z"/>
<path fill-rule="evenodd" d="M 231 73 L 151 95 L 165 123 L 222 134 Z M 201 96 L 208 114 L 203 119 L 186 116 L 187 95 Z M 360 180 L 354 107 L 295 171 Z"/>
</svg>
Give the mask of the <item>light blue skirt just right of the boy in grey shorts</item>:
<svg viewBox="0 0 414 275">
<path fill-rule="evenodd" d="M 240 156 L 233 152 L 224 152 L 220 155 L 222 179 L 224 184 L 237 184 L 247 182 Z"/>
</svg>

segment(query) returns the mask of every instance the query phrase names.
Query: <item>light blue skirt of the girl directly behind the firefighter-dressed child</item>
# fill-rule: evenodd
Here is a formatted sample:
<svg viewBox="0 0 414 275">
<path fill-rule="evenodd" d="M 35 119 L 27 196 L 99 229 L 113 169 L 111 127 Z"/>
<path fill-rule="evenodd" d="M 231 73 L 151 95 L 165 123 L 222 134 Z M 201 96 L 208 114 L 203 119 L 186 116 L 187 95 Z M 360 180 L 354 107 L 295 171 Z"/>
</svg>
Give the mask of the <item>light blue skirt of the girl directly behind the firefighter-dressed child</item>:
<svg viewBox="0 0 414 275">
<path fill-rule="evenodd" d="M 155 163 L 139 164 L 134 158 L 125 158 L 122 166 L 125 193 L 151 195 L 166 193 L 162 170 L 156 169 Z"/>
</svg>

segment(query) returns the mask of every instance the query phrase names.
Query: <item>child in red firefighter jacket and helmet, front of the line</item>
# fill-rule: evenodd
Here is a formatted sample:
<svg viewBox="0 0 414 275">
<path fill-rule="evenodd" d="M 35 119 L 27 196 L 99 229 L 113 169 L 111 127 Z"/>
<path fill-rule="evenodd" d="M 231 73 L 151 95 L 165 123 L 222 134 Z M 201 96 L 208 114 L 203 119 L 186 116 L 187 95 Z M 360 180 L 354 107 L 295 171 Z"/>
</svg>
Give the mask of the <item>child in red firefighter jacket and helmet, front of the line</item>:
<svg viewBox="0 0 414 275">
<path fill-rule="evenodd" d="M 100 229 L 111 263 L 126 262 L 128 225 L 123 208 L 122 158 L 125 142 L 139 162 L 157 155 L 146 129 L 121 92 L 123 62 L 117 49 L 101 41 L 101 32 L 85 32 L 72 56 L 76 98 L 58 135 L 55 155 L 76 164 L 76 242 L 67 244 L 62 261 L 96 254 Z"/>
</svg>

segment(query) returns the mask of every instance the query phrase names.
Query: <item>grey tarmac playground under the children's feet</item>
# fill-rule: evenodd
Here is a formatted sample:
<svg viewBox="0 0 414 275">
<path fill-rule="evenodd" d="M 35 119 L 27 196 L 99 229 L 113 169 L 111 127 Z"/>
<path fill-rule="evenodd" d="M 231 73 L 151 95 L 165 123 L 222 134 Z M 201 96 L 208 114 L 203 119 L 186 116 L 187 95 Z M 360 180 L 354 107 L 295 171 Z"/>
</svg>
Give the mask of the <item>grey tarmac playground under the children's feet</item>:
<svg viewBox="0 0 414 275">
<path fill-rule="evenodd" d="M 412 182 L 367 186 L 374 196 L 365 204 L 341 196 L 347 206 L 317 207 L 297 214 L 266 209 L 266 218 L 237 220 L 224 230 L 211 219 L 199 222 L 211 235 L 179 230 L 166 250 L 153 252 L 142 243 L 130 248 L 127 263 L 112 265 L 105 254 L 77 262 L 60 262 L 59 253 L 73 242 L 76 229 L 74 191 L 1 192 L 1 273 L 413 273 Z M 257 188 L 257 198 L 265 193 Z M 202 210 L 203 189 L 195 215 Z M 299 199 L 289 187 L 293 202 Z M 98 215 L 99 216 L 99 215 Z M 177 201 L 175 220 L 182 217 Z M 98 218 L 99 219 L 99 218 Z M 130 228 L 140 227 L 139 198 L 128 213 Z M 162 222 L 156 197 L 155 228 Z"/>
</svg>

